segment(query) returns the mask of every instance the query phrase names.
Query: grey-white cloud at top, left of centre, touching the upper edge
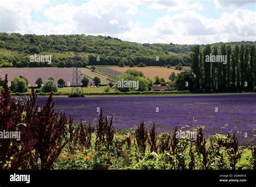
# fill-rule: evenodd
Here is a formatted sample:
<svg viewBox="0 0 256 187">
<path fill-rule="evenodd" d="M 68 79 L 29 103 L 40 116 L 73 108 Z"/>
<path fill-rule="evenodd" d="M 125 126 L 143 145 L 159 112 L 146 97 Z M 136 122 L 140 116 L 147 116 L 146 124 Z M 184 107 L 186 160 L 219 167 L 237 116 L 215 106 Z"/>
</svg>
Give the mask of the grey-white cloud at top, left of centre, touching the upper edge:
<svg viewBox="0 0 256 187">
<path fill-rule="evenodd" d="M 132 16 L 138 12 L 133 1 L 89 1 L 80 6 L 62 4 L 46 8 L 44 15 L 60 23 L 72 22 L 77 33 L 120 33 L 133 25 Z"/>
</svg>

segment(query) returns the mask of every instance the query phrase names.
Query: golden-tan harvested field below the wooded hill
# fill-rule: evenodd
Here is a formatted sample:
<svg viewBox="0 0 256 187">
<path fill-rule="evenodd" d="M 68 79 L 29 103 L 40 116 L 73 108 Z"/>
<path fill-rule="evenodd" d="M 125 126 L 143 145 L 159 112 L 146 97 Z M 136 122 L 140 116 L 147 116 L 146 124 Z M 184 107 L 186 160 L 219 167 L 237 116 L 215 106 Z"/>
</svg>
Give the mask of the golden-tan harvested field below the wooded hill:
<svg viewBox="0 0 256 187">
<path fill-rule="evenodd" d="M 161 68 L 161 67 L 144 67 L 144 68 L 140 68 L 140 67 L 133 67 L 133 68 L 111 67 L 111 69 L 113 69 L 115 71 L 119 71 L 121 73 L 124 73 L 127 69 L 136 69 L 138 71 L 142 71 L 142 73 L 145 75 L 145 77 L 149 77 L 149 78 L 151 78 L 151 80 L 154 80 L 154 77 L 156 77 L 158 75 L 159 77 L 163 77 L 165 79 L 165 81 L 169 80 L 169 75 L 172 72 L 174 72 L 176 75 L 181 72 L 180 70 Z"/>
</svg>

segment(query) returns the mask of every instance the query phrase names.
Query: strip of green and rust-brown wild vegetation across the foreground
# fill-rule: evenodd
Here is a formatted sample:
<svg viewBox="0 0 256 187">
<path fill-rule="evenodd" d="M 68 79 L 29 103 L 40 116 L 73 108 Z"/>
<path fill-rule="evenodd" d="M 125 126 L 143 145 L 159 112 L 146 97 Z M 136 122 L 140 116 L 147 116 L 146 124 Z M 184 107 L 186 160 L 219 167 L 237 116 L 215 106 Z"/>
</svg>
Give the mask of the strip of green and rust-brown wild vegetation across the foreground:
<svg viewBox="0 0 256 187">
<path fill-rule="evenodd" d="M 177 128 L 158 133 L 143 121 L 122 132 L 102 111 L 96 125 L 76 124 L 55 112 L 52 95 L 43 107 L 35 90 L 26 102 L 11 100 L 7 76 L 0 120 L 2 132 L 21 132 L 20 141 L 0 139 L 0 169 L 255 169 L 255 147 L 239 146 L 235 133 L 205 138 L 197 126 L 189 129 L 196 140 L 177 138 Z"/>
</svg>

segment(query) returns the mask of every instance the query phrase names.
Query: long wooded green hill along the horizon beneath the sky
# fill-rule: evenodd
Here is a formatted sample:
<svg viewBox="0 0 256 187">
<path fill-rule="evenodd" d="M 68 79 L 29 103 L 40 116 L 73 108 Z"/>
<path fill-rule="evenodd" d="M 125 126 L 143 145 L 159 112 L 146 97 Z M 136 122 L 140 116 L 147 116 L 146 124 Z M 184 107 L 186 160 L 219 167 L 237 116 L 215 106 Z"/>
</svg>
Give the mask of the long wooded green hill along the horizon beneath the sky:
<svg viewBox="0 0 256 187">
<path fill-rule="evenodd" d="M 216 43 L 213 45 L 220 45 Z M 255 42 L 230 42 L 255 45 Z M 35 35 L 0 33 L 0 67 L 73 67 L 78 62 L 87 65 L 134 65 L 163 66 L 178 63 L 189 66 L 193 45 L 139 44 L 118 38 L 77 35 Z M 77 56 L 75 56 L 77 53 Z M 30 62 L 30 55 L 52 55 L 52 63 Z M 97 60 L 97 57 L 99 59 Z M 2 64 L 2 66 L 1 66 Z"/>
</svg>

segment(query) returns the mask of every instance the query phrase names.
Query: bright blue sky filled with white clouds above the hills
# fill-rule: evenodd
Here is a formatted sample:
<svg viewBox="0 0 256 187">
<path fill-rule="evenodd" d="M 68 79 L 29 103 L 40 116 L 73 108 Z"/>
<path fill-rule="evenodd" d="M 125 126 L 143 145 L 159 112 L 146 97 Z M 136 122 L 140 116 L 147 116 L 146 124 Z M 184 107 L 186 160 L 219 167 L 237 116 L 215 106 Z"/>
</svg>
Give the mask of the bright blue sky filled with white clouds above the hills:
<svg viewBox="0 0 256 187">
<path fill-rule="evenodd" d="M 255 41 L 255 0 L 1 0 L 0 32 L 109 35 L 125 41 Z"/>
</svg>

